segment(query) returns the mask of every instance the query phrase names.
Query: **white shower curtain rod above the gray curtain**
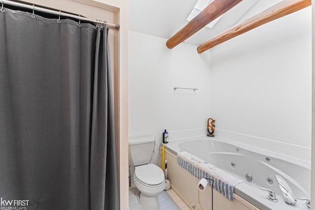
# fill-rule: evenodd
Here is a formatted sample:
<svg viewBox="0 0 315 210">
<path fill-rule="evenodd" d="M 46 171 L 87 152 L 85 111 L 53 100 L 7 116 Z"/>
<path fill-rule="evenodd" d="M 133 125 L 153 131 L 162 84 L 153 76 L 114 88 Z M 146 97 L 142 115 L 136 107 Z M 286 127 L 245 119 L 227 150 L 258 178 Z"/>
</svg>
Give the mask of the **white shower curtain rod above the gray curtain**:
<svg viewBox="0 0 315 210">
<path fill-rule="evenodd" d="M 119 24 L 106 23 L 106 22 L 101 21 L 101 20 L 93 20 L 93 19 L 82 17 L 82 16 L 78 16 L 78 15 L 72 15 L 72 14 L 65 13 L 65 12 L 60 12 L 60 11 L 56 11 L 56 10 L 52 10 L 52 9 L 46 9 L 46 8 L 42 8 L 42 7 L 38 7 L 38 6 L 33 6 L 30 4 L 26 4 L 26 3 L 20 3 L 20 2 L 11 1 L 11 0 L 0 0 L 0 3 L 3 3 L 3 5 L 9 4 L 12 6 L 25 7 L 28 9 L 33 9 L 35 12 L 40 11 L 40 12 L 46 12 L 46 13 L 50 13 L 50 14 L 54 14 L 54 15 L 60 15 L 60 16 L 64 16 L 64 17 L 71 17 L 71 18 L 75 18 L 78 20 L 90 21 L 90 22 L 93 22 L 95 24 L 97 24 L 97 23 L 106 24 L 108 27 L 113 27 L 113 28 L 119 29 Z"/>
</svg>

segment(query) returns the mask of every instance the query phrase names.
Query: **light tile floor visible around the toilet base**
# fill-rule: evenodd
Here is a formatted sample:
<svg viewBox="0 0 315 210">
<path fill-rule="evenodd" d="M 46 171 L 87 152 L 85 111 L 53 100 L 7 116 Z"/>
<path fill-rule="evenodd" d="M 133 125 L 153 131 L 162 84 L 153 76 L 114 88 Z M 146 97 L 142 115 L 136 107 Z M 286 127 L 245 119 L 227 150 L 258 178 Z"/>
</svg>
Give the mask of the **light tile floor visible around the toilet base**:
<svg viewBox="0 0 315 210">
<path fill-rule="evenodd" d="M 143 210 L 136 196 L 137 188 L 129 188 L 129 210 Z M 189 207 L 172 189 L 163 191 L 158 196 L 160 210 L 190 210 Z"/>
</svg>

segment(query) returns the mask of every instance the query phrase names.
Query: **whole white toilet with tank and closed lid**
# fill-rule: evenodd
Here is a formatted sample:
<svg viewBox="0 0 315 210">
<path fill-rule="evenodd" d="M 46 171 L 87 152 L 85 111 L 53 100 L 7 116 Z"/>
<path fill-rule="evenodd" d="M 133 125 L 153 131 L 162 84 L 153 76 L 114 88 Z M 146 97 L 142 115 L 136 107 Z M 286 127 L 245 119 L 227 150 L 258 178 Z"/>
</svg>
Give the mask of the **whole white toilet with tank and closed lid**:
<svg viewBox="0 0 315 210">
<path fill-rule="evenodd" d="M 159 210 L 158 195 L 165 188 L 162 169 L 149 164 L 153 151 L 154 137 L 129 138 L 129 165 L 135 166 L 133 180 L 141 192 L 139 204 L 143 210 Z"/>
</svg>

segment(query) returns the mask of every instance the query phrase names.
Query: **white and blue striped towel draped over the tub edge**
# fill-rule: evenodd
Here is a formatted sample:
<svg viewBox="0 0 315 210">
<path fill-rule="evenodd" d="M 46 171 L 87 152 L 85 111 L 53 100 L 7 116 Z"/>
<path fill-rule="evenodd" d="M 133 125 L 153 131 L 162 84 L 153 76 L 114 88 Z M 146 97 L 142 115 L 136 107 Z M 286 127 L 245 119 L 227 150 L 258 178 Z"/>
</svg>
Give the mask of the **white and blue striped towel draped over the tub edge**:
<svg viewBox="0 0 315 210">
<path fill-rule="evenodd" d="M 198 179 L 214 180 L 212 187 L 231 201 L 234 200 L 234 186 L 243 182 L 187 151 L 180 151 L 177 154 L 177 163 Z M 212 181 L 208 180 L 208 183 L 211 186 Z"/>
</svg>

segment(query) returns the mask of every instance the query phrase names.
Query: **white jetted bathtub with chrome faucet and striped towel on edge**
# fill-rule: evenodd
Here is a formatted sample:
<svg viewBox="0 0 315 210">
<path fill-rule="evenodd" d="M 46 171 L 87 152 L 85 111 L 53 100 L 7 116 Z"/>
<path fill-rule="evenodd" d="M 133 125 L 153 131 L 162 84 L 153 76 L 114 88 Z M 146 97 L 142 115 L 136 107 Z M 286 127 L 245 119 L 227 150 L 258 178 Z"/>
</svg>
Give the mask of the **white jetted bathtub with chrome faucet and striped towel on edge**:
<svg viewBox="0 0 315 210">
<path fill-rule="evenodd" d="M 234 187 L 234 193 L 261 210 L 306 210 L 303 206 L 305 201 L 298 200 L 298 197 L 310 197 L 310 162 L 217 137 L 173 140 L 165 144 L 165 149 L 175 155 L 187 151 L 243 180 Z M 284 203 L 275 175 L 281 175 L 291 187 L 297 199 L 295 206 Z M 275 190 L 278 202 L 267 200 L 268 192 L 259 187 Z"/>
</svg>

